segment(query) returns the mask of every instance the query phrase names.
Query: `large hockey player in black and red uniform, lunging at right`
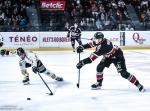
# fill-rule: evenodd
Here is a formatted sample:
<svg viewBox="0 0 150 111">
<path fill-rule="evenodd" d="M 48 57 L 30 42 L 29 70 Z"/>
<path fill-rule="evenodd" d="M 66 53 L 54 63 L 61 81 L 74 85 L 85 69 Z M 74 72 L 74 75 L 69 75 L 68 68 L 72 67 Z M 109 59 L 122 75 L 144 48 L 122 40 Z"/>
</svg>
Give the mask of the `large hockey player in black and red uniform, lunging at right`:
<svg viewBox="0 0 150 111">
<path fill-rule="evenodd" d="M 96 32 L 94 34 L 93 41 L 84 45 L 80 45 L 77 47 L 77 53 L 82 52 L 84 49 L 96 47 L 95 52 L 93 52 L 89 57 L 81 60 L 76 67 L 78 69 L 82 68 L 85 64 L 92 63 L 98 56 L 103 55 L 102 60 L 97 65 L 97 82 L 91 85 L 92 89 L 100 89 L 103 81 L 103 70 L 105 67 L 109 67 L 111 63 L 113 63 L 121 76 L 131 83 L 133 83 L 140 92 L 144 92 L 145 89 L 142 84 L 139 83 L 137 78 L 130 74 L 127 71 L 125 58 L 121 48 L 116 45 L 113 45 L 108 39 L 104 38 L 103 33 Z"/>
</svg>

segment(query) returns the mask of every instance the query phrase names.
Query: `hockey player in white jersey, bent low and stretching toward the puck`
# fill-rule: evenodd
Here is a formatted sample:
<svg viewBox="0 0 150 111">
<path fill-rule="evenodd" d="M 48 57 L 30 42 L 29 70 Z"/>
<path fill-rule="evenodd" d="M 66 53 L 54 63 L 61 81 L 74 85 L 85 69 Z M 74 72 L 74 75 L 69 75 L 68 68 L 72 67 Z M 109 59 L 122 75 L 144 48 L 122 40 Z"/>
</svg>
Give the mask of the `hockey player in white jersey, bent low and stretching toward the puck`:
<svg viewBox="0 0 150 111">
<path fill-rule="evenodd" d="M 53 72 L 46 69 L 41 60 L 33 52 L 28 52 L 22 47 L 17 49 L 17 55 L 20 57 L 19 66 L 24 76 L 23 84 L 30 84 L 29 73 L 26 68 L 32 67 L 34 73 L 44 73 L 56 81 L 63 81 L 62 77 L 56 76 Z"/>
</svg>

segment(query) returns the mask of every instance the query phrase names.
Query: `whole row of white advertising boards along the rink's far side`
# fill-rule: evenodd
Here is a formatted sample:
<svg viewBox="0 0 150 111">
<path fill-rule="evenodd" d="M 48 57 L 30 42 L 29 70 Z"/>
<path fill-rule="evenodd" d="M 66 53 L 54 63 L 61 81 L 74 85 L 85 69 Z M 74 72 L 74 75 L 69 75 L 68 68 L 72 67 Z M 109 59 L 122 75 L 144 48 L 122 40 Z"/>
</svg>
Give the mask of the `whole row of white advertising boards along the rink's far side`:
<svg viewBox="0 0 150 111">
<path fill-rule="evenodd" d="M 96 31 L 82 31 L 83 44 L 92 42 Z M 149 31 L 102 31 L 104 37 L 118 46 L 150 46 Z M 72 48 L 67 31 L 63 32 L 0 32 L 3 48 Z M 76 41 L 75 47 L 79 44 Z"/>
</svg>

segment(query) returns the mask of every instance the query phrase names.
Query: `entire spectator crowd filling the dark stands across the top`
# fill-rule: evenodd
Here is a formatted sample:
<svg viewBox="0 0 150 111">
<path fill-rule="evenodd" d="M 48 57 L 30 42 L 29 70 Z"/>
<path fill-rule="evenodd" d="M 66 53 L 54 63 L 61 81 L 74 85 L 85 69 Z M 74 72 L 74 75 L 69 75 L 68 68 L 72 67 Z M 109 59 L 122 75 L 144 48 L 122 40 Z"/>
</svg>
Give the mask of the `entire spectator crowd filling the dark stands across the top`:
<svg viewBox="0 0 150 111">
<path fill-rule="evenodd" d="M 27 8 L 33 0 L 0 0 L 0 31 L 28 31 Z M 150 0 L 65 0 L 64 11 L 49 11 L 43 16 L 39 0 L 34 0 L 42 31 L 66 31 L 77 23 L 83 31 L 136 30 L 128 5 L 138 16 L 139 24 L 150 29 Z M 38 2 L 38 3 L 36 3 Z M 44 28 L 43 28 L 44 27 Z M 46 27 L 46 28 L 45 28 Z M 141 29 L 143 30 L 143 29 Z"/>
</svg>

